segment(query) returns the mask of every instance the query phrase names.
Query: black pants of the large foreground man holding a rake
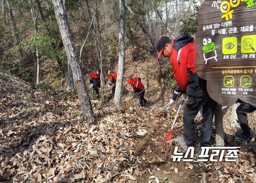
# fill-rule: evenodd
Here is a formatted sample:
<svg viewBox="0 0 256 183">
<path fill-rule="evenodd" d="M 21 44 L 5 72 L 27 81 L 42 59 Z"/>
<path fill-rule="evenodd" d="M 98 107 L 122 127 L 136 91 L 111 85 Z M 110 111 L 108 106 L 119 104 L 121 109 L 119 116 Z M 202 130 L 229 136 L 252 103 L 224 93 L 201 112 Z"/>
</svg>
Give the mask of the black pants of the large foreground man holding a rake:
<svg viewBox="0 0 256 183">
<path fill-rule="evenodd" d="M 203 127 L 201 130 L 201 147 L 210 146 L 212 136 L 212 119 L 217 102 L 212 100 L 208 94 L 198 98 L 189 97 L 183 112 L 183 137 L 186 145 L 191 146 L 194 142 L 194 119 L 198 111 L 203 107 Z"/>
</svg>

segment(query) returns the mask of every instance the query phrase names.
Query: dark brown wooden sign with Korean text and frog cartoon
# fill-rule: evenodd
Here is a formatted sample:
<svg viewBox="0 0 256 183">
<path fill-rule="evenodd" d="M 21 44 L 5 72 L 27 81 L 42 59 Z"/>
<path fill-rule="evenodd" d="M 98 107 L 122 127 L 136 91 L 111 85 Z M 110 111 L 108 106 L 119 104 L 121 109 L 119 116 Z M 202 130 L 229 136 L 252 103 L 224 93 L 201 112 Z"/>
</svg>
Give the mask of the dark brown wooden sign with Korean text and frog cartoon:
<svg viewBox="0 0 256 183">
<path fill-rule="evenodd" d="M 255 0 L 206 0 L 198 12 L 196 70 L 221 105 L 256 106 Z"/>
</svg>

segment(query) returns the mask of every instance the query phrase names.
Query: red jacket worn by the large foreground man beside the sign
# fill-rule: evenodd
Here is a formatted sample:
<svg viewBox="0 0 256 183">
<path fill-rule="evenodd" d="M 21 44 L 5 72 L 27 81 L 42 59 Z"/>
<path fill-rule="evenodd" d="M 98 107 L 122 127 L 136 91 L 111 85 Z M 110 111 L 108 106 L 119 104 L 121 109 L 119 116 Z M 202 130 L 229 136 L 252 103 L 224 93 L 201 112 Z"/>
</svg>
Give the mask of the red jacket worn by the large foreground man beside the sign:
<svg viewBox="0 0 256 183">
<path fill-rule="evenodd" d="M 172 45 L 173 45 L 172 39 Z M 185 92 L 189 83 L 189 70 L 195 73 L 195 42 L 187 43 L 180 50 L 176 50 L 173 46 L 171 49 L 170 61 L 172 69 L 175 73 L 175 79 L 180 90 Z"/>
</svg>

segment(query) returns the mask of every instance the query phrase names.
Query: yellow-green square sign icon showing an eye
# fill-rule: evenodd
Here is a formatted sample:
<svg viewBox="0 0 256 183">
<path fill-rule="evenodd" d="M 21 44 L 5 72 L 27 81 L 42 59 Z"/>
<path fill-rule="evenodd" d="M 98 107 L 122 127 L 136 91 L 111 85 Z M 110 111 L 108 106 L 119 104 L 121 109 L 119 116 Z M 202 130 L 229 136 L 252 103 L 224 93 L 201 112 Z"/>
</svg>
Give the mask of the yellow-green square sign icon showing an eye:
<svg viewBox="0 0 256 183">
<path fill-rule="evenodd" d="M 237 38 L 223 38 L 222 39 L 222 53 L 224 55 L 235 54 L 237 52 Z"/>
</svg>

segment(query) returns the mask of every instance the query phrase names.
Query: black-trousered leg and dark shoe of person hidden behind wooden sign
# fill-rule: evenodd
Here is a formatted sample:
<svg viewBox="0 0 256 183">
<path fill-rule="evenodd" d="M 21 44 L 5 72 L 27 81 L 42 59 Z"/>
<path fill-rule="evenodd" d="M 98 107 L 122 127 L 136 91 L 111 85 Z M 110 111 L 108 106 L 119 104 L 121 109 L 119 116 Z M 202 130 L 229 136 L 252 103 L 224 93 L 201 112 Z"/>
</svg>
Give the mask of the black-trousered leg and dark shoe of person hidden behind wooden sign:
<svg viewBox="0 0 256 183">
<path fill-rule="evenodd" d="M 243 132 L 236 132 L 236 137 L 244 140 L 250 140 L 252 138 L 252 135 L 250 133 L 250 127 L 248 125 L 248 119 L 246 114 L 255 111 L 256 107 L 250 105 L 249 103 L 245 103 L 240 99 L 238 99 L 238 102 L 240 103 L 240 105 L 236 108 L 236 114 L 238 118 L 237 122 L 239 123 Z"/>
</svg>

